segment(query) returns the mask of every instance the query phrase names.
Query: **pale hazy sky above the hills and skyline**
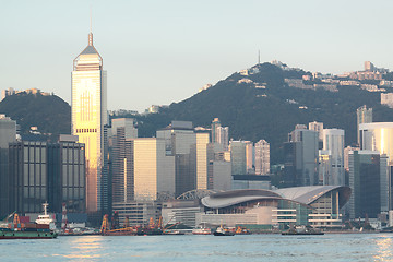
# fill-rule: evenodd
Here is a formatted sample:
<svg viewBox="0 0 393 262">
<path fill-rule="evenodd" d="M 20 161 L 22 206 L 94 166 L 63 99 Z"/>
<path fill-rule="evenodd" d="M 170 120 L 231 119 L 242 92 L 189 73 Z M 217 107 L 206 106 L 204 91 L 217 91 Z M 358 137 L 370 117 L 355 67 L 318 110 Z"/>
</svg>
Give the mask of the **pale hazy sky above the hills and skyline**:
<svg viewBox="0 0 393 262">
<path fill-rule="evenodd" d="M 0 90 L 39 88 L 70 104 L 73 59 L 94 46 L 108 109 L 191 97 L 258 62 L 322 73 L 393 70 L 390 0 L 14 0 L 0 8 Z"/>
</svg>

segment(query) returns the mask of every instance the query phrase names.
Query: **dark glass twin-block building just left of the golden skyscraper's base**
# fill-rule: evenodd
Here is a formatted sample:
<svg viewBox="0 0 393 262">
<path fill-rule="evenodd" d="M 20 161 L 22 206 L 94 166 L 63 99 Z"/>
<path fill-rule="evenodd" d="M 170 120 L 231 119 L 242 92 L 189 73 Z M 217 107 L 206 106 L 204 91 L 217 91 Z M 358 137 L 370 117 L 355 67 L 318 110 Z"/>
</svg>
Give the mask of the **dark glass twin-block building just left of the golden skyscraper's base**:
<svg viewBox="0 0 393 262">
<path fill-rule="evenodd" d="M 84 144 L 70 141 L 14 142 L 9 145 L 9 210 L 20 213 L 49 210 L 85 212 Z"/>
</svg>

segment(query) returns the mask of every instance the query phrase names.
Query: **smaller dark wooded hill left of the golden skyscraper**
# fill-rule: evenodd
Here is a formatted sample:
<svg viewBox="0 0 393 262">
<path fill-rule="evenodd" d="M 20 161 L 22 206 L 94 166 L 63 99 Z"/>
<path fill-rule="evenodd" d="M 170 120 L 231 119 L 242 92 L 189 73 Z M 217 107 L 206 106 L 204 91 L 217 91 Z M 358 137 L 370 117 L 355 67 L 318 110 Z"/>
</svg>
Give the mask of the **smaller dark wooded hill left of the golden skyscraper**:
<svg viewBox="0 0 393 262">
<path fill-rule="evenodd" d="M 0 114 L 5 114 L 21 126 L 21 133 L 28 133 L 31 127 L 52 134 L 70 133 L 71 107 L 56 95 L 19 93 L 0 103 Z"/>
</svg>

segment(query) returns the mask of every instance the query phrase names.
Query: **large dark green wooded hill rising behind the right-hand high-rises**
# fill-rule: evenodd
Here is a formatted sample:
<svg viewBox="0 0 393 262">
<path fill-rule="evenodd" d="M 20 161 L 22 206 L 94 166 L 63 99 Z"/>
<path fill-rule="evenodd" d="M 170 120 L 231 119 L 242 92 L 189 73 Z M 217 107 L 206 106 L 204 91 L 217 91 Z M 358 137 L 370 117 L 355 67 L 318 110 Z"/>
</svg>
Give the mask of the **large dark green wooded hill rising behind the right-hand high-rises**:
<svg viewBox="0 0 393 262">
<path fill-rule="evenodd" d="M 165 126 L 163 120 L 168 123 L 170 119 L 190 120 L 194 126 L 210 127 L 213 118 L 218 117 L 223 126 L 229 127 L 230 138 L 235 140 L 257 142 L 265 139 L 271 143 L 272 163 L 281 163 L 283 142 L 287 141 L 288 133 L 297 123 L 319 121 L 325 128 L 344 129 L 346 144 L 353 144 L 356 142 L 358 107 L 372 107 L 374 121 L 393 121 L 393 110 L 380 105 L 380 93 L 353 86 L 341 87 L 338 92 L 288 87 L 284 84 L 285 78 L 301 78 L 306 72 L 282 71 L 270 63 L 255 67 L 260 73 L 249 76 L 235 73 L 206 91 L 170 105 L 159 115 L 145 117 L 144 124 L 152 126 L 154 120 L 151 118 L 159 117 L 162 121 L 156 126 L 158 128 Z M 264 83 L 266 88 L 254 88 L 252 83 L 238 84 L 238 80 L 243 78 Z M 141 134 L 145 133 L 144 124 L 140 127 Z"/>
</svg>

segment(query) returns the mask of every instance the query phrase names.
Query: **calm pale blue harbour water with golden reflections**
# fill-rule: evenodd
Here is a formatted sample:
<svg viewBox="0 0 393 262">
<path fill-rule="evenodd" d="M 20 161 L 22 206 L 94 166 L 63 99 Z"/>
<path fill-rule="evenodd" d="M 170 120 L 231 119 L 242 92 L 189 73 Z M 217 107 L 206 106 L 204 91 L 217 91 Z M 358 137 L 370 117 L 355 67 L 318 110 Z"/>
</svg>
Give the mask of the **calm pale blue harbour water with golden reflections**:
<svg viewBox="0 0 393 262">
<path fill-rule="evenodd" d="M 393 234 L 1 240 L 0 261 L 393 261 Z"/>
</svg>

